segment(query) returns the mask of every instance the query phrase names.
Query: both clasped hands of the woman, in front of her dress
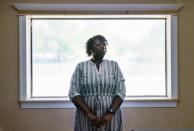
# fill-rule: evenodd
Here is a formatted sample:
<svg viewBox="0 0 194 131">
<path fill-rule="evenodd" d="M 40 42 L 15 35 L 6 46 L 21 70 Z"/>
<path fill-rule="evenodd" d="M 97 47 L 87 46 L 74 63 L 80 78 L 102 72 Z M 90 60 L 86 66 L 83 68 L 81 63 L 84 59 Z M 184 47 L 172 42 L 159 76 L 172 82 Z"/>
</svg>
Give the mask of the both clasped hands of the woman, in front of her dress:
<svg viewBox="0 0 194 131">
<path fill-rule="evenodd" d="M 94 128 L 100 128 L 101 126 L 103 126 L 104 128 L 106 128 L 107 125 L 108 125 L 108 123 L 111 121 L 111 119 L 114 116 L 111 113 L 106 113 L 102 117 L 97 117 L 92 112 L 89 112 L 86 115 L 87 115 L 88 119 L 91 121 L 92 126 Z"/>
</svg>

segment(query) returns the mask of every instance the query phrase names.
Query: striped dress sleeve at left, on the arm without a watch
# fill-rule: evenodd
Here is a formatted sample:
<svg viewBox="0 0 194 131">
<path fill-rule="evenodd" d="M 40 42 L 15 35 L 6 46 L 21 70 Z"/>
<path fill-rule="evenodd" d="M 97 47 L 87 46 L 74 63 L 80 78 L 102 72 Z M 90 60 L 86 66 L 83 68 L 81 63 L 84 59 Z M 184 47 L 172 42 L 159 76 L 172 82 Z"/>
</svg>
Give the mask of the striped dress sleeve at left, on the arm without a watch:
<svg viewBox="0 0 194 131">
<path fill-rule="evenodd" d="M 80 65 L 78 64 L 76 66 L 75 71 L 73 72 L 73 75 L 71 77 L 71 82 L 70 82 L 70 89 L 69 89 L 69 98 L 72 101 L 72 99 L 75 96 L 81 95 L 80 94 Z"/>
</svg>

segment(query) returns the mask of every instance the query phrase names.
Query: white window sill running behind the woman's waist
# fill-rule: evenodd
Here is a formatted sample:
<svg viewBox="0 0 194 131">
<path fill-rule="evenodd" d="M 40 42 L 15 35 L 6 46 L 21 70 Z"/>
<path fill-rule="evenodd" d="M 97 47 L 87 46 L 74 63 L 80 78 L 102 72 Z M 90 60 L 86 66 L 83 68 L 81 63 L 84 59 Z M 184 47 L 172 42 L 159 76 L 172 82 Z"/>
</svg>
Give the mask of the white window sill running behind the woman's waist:
<svg viewBox="0 0 194 131">
<path fill-rule="evenodd" d="M 177 98 L 155 97 L 155 98 L 126 98 L 121 108 L 126 107 L 176 107 Z M 69 98 L 48 99 L 33 98 L 20 100 L 22 108 L 75 108 Z"/>
</svg>

